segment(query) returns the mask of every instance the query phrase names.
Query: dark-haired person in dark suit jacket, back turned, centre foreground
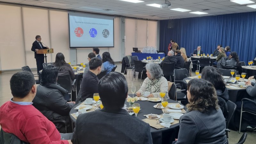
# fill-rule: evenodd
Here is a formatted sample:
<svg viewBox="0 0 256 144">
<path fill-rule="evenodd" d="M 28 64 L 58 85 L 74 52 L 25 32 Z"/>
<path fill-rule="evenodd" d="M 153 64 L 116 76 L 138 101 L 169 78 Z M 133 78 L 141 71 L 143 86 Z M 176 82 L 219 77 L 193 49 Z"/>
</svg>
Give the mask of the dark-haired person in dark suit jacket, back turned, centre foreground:
<svg viewBox="0 0 256 144">
<path fill-rule="evenodd" d="M 73 144 L 152 144 L 149 124 L 123 109 L 128 93 L 124 75 L 110 72 L 100 79 L 98 87 L 104 108 L 77 117 Z"/>
</svg>

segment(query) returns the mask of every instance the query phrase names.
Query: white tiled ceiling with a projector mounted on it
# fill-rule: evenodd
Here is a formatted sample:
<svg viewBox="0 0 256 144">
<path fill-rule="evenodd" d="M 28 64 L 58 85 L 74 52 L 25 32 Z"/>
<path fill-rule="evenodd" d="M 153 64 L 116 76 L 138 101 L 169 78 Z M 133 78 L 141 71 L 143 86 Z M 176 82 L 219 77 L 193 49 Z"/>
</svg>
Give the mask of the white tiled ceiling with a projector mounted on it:
<svg viewBox="0 0 256 144">
<path fill-rule="evenodd" d="M 240 12 L 254 12 L 256 9 L 237 4 L 229 0 L 169 0 L 171 8 L 157 8 L 146 4 L 161 4 L 165 0 L 142 0 L 141 3 L 131 3 L 120 0 L 0 0 L 0 2 L 27 4 L 50 8 L 76 10 L 124 17 L 134 17 L 150 20 L 180 19 L 189 17 L 221 15 Z M 256 0 L 251 0 L 256 2 Z M 178 12 L 170 9 L 183 8 L 191 11 Z M 109 11 L 106 11 L 106 10 Z M 209 10 L 204 10 L 209 9 Z M 208 14 L 193 14 L 189 12 L 207 12 Z"/>
</svg>

